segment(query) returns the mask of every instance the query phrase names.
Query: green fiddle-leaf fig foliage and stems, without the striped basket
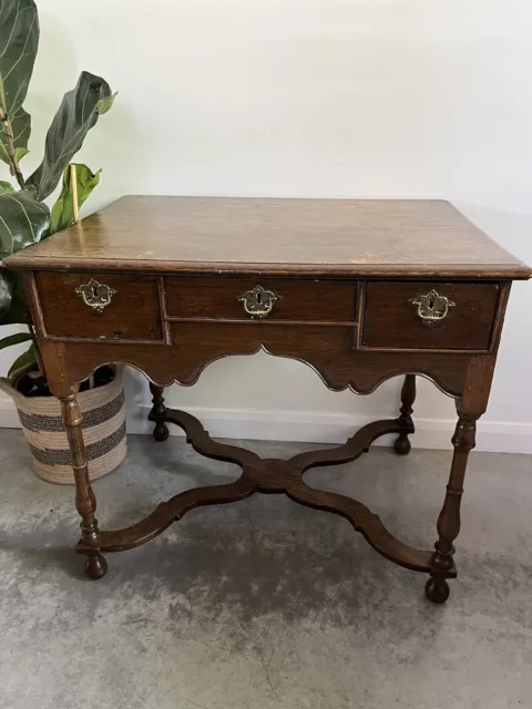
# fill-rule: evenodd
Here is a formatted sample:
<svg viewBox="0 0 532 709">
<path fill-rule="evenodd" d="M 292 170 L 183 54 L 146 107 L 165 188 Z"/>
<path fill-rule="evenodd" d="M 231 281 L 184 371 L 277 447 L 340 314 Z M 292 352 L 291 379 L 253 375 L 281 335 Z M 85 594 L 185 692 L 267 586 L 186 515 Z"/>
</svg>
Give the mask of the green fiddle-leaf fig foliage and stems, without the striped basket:
<svg viewBox="0 0 532 709">
<path fill-rule="evenodd" d="M 20 167 L 28 154 L 31 116 L 24 110 L 39 47 L 39 13 L 34 0 L 0 0 L 0 161 L 9 167 L 11 182 L 0 181 L 0 259 L 37 244 L 74 220 L 71 160 L 83 145 L 99 117 L 110 111 L 116 94 L 108 82 L 83 71 L 66 92 L 47 134 L 39 167 L 25 179 Z M 50 197 L 62 178 L 57 203 Z M 13 186 L 13 181 L 18 189 Z M 86 165 L 75 165 L 78 206 L 100 182 Z M 37 340 L 25 292 L 19 275 L 0 268 L 0 325 L 22 323 L 28 333 L 0 340 L 0 349 L 30 341 L 30 348 L 11 367 L 39 363 Z"/>
</svg>

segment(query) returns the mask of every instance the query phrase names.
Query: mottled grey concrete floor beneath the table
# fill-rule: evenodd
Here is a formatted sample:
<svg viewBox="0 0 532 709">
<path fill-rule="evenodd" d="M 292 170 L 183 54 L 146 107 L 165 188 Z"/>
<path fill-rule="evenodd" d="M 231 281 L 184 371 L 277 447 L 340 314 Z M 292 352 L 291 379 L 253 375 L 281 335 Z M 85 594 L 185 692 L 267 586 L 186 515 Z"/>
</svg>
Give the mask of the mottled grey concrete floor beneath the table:
<svg viewBox="0 0 532 709">
<path fill-rule="evenodd" d="M 99 518 L 133 523 L 172 494 L 229 482 L 183 439 L 130 436 L 95 483 Z M 416 439 L 413 438 L 413 444 Z M 307 444 L 254 442 L 287 458 Z M 450 452 L 375 448 L 309 484 L 369 504 L 429 548 Z M 532 707 L 532 460 L 473 453 L 446 606 L 342 518 L 284 496 L 194 510 L 99 582 L 72 552 L 73 490 L 31 472 L 0 431 L 1 709 Z"/>
</svg>

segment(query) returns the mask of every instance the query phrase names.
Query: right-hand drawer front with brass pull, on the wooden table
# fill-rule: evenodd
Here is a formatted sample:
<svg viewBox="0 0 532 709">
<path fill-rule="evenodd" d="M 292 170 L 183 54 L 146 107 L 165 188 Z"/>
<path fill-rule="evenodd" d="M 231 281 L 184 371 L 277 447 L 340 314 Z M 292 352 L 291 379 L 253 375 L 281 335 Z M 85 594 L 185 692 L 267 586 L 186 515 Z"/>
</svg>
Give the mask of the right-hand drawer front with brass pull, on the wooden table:
<svg viewBox="0 0 532 709">
<path fill-rule="evenodd" d="M 499 290 L 497 284 L 368 282 L 360 347 L 489 350 Z"/>
</svg>

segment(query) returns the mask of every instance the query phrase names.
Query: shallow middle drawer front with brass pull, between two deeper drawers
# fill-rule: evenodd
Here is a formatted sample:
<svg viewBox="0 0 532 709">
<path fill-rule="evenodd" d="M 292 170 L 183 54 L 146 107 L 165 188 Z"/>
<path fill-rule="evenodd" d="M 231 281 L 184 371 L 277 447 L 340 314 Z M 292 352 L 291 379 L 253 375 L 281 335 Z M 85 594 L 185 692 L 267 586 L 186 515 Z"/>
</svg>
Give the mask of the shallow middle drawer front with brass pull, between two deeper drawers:
<svg viewBox="0 0 532 709">
<path fill-rule="evenodd" d="M 352 321 L 356 312 L 355 281 L 168 277 L 164 284 L 173 318 Z"/>
</svg>

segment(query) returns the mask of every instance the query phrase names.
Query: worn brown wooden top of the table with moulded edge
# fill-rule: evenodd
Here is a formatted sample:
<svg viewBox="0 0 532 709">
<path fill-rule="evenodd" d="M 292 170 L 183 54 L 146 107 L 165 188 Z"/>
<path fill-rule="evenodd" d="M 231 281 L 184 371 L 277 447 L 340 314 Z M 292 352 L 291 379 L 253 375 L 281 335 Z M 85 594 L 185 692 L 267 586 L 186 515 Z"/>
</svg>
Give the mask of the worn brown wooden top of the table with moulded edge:
<svg viewBox="0 0 532 709">
<path fill-rule="evenodd" d="M 443 201 L 125 196 L 4 260 L 13 268 L 529 278 Z"/>
</svg>

